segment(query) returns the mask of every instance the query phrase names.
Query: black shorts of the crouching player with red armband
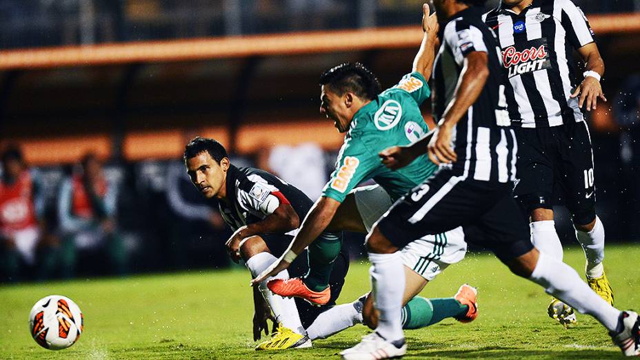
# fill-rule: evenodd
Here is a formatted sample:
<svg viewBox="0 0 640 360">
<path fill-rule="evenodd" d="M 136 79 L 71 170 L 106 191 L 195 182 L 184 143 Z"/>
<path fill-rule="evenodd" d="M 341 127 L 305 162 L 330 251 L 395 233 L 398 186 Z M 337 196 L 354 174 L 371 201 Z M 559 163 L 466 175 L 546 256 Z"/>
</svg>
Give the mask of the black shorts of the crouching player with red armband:
<svg viewBox="0 0 640 360">
<path fill-rule="evenodd" d="M 281 257 L 283 252 L 288 248 L 293 237 L 284 234 L 263 234 L 261 235 L 269 250 L 274 257 Z M 309 271 L 309 263 L 307 260 L 307 251 L 299 254 L 298 257 L 291 263 L 288 268 L 289 277 L 303 277 Z M 331 298 L 326 305 L 312 306 L 307 301 L 300 298 L 294 298 L 298 313 L 300 314 L 300 321 L 304 328 L 308 328 L 319 314 L 332 308 L 336 304 L 342 287 L 344 286 L 344 278 L 349 271 L 349 255 L 344 246 L 340 250 L 337 259 L 333 263 L 333 269 L 331 270 L 331 276 L 329 278 L 329 286 L 331 288 Z"/>
</svg>

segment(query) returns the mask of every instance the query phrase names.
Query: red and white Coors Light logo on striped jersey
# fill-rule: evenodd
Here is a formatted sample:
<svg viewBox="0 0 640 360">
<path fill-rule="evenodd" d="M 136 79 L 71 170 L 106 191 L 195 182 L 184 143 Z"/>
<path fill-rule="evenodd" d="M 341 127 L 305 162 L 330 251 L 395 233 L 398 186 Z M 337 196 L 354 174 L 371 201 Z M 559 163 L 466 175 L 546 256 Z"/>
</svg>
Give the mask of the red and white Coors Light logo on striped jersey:
<svg viewBox="0 0 640 360">
<path fill-rule="evenodd" d="M 502 50 L 502 63 L 509 70 L 509 77 L 551 67 L 545 43 L 533 45 L 522 51 L 509 46 Z"/>
</svg>

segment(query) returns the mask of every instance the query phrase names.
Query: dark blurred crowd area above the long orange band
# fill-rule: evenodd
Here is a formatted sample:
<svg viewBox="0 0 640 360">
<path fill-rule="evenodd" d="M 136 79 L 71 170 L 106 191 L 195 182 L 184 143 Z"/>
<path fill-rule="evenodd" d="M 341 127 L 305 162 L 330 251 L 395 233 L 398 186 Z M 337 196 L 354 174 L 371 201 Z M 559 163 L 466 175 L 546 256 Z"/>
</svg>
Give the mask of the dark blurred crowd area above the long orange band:
<svg viewBox="0 0 640 360">
<path fill-rule="evenodd" d="M 639 0 L 575 0 L 588 13 Z M 3 0 L 0 48 L 364 28 L 415 23 L 422 0 Z M 498 0 L 487 1 L 487 7 Z"/>
</svg>

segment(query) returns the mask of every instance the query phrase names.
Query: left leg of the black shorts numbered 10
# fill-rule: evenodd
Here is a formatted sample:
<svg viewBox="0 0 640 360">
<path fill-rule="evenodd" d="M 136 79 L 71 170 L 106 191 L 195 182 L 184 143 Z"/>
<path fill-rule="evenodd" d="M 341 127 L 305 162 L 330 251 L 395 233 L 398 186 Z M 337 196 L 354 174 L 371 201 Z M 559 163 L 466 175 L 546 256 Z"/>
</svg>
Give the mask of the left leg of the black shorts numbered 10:
<svg viewBox="0 0 640 360">
<path fill-rule="evenodd" d="M 534 209 L 552 209 L 554 166 L 544 140 L 549 130 L 516 129 L 518 139 L 517 181 L 513 191 L 521 211 L 528 216 Z"/>
</svg>

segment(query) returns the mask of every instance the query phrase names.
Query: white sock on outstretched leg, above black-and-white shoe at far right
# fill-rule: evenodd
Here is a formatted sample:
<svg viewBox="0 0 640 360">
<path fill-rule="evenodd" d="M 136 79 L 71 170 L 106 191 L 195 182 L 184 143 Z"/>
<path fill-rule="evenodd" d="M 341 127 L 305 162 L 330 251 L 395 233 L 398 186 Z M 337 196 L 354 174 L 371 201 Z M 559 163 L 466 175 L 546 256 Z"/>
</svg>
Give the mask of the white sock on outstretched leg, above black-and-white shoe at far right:
<svg viewBox="0 0 640 360">
<path fill-rule="evenodd" d="M 566 263 L 540 252 L 536 268 L 529 279 L 568 306 L 583 314 L 592 315 L 609 331 L 616 330 L 620 311 L 593 292 Z"/>
</svg>

